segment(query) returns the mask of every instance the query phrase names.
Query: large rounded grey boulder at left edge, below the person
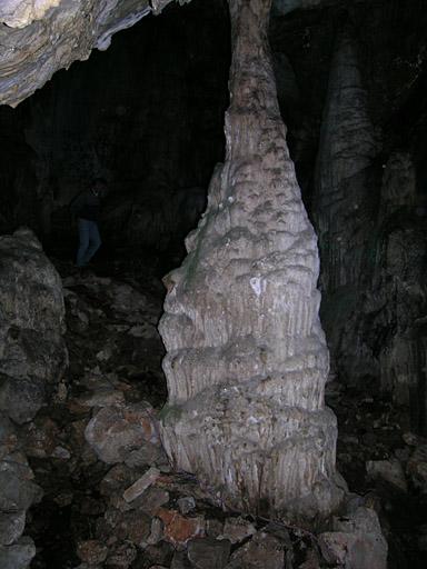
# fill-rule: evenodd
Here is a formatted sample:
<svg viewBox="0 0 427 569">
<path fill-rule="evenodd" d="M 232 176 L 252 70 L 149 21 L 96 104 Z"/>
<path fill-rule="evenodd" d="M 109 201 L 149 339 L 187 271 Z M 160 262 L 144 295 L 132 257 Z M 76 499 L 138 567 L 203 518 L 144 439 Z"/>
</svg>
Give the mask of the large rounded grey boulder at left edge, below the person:
<svg viewBox="0 0 427 569">
<path fill-rule="evenodd" d="M 67 363 L 62 284 L 29 230 L 0 237 L 0 410 L 22 423 Z"/>
</svg>

